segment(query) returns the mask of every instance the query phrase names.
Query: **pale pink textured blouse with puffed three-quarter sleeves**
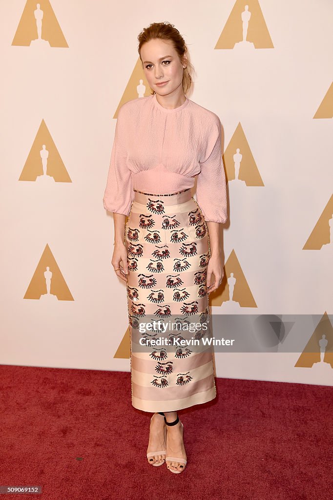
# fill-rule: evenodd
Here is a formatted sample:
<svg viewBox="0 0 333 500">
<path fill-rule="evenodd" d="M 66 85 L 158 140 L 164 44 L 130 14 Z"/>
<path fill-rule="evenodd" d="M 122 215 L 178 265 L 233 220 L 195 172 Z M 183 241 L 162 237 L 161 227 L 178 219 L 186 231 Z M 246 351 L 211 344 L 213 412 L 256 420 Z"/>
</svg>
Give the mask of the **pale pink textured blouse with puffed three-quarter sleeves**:
<svg viewBox="0 0 333 500">
<path fill-rule="evenodd" d="M 196 182 L 206 221 L 225 222 L 226 183 L 218 116 L 186 98 L 166 109 L 156 94 L 137 97 L 118 111 L 104 208 L 128 215 L 134 191 L 167 194 Z"/>
</svg>

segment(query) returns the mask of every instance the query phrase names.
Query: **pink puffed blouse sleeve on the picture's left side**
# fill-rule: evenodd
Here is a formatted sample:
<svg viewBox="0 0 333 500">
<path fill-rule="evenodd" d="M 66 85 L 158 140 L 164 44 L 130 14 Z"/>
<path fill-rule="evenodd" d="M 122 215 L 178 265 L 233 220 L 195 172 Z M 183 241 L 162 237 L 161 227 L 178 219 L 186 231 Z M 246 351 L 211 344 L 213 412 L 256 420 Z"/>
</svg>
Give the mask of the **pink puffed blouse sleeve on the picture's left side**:
<svg viewBox="0 0 333 500">
<path fill-rule="evenodd" d="M 134 199 L 131 171 L 127 167 L 126 119 L 123 105 L 119 108 L 115 125 L 110 165 L 103 196 L 105 210 L 128 215 Z"/>
</svg>

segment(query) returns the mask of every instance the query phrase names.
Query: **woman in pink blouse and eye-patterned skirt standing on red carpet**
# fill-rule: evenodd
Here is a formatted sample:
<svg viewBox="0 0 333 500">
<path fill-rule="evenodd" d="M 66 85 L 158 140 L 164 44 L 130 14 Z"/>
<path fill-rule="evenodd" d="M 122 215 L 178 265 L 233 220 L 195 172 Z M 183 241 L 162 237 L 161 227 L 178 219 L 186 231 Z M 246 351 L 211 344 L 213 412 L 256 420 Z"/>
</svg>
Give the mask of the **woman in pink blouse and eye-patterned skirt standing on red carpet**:
<svg viewBox="0 0 333 500">
<path fill-rule="evenodd" d="M 177 410 L 215 397 L 211 347 L 141 344 L 163 335 L 160 324 L 145 333 L 138 324 L 209 322 L 208 294 L 223 277 L 219 224 L 227 218 L 221 128 L 216 114 L 185 95 L 191 64 L 179 31 L 152 23 L 138 41 L 153 92 L 119 108 L 103 204 L 114 219 L 111 263 L 126 282 L 132 405 L 153 412 L 147 459 L 179 473 L 186 453 Z"/>
</svg>

